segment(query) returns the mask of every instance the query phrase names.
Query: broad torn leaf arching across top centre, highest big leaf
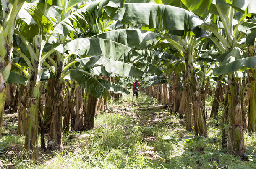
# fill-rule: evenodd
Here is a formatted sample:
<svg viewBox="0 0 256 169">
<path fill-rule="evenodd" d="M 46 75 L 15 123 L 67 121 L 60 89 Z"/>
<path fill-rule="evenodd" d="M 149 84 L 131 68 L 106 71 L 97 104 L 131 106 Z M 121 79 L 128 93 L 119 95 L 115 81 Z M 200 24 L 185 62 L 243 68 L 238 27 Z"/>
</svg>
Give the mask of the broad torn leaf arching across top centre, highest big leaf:
<svg viewBox="0 0 256 169">
<path fill-rule="evenodd" d="M 189 30 L 204 24 L 203 20 L 183 8 L 154 3 L 127 3 L 117 10 L 113 19 L 165 30 Z"/>
</svg>

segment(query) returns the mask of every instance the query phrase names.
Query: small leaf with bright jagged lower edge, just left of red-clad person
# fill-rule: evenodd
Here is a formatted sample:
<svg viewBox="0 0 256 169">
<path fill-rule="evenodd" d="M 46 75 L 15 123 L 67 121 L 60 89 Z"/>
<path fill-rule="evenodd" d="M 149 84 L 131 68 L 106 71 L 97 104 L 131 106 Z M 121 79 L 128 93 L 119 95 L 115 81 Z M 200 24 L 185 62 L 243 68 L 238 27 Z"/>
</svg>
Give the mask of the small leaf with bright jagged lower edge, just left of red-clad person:
<svg viewBox="0 0 256 169">
<path fill-rule="evenodd" d="M 121 86 L 112 83 L 110 81 L 106 81 L 103 79 L 98 79 L 99 83 L 102 83 L 103 86 L 105 86 L 105 88 L 107 88 L 107 90 L 109 91 L 113 91 L 115 94 L 130 94 L 130 92 L 128 90 L 125 90 L 124 88 L 122 88 Z"/>
</svg>

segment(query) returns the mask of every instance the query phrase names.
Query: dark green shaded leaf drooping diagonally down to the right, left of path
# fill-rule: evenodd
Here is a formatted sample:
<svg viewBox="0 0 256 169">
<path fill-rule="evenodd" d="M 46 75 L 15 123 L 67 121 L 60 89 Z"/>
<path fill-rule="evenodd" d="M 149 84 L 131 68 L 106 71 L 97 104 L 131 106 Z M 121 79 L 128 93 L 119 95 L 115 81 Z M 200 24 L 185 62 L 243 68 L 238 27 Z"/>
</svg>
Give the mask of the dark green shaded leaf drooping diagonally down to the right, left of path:
<svg viewBox="0 0 256 169">
<path fill-rule="evenodd" d="M 84 90 L 94 97 L 97 98 L 107 98 L 109 92 L 96 78 L 91 76 L 86 71 L 76 68 L 70 71 L 70 74 L 73 79 L 77 81 L 77 83 L 84 88 Z"/>
</svg>

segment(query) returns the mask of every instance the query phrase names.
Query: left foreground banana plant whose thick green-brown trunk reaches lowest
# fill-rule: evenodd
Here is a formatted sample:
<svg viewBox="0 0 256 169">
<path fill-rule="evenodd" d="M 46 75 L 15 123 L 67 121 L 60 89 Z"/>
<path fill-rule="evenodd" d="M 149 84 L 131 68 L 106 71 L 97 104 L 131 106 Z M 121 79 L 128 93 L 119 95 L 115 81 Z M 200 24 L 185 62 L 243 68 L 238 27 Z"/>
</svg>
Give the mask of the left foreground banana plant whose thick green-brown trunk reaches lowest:
<svg viewBox="0 0 256 169">
<path fill-rule="evenodd" d="M 27 24 L 26 21 L 19 21 L 17 24 L 15 33 L 18 35 L 21 43 L 17 44 L 14 48 L 16 53 L 26 62 L 28 66 L 28 83 L 26 84 L 25 91 L 28 93 L 28 97 L 24 101 L 24 107 L 27 110 L 26 116 L 26 134 L 24 147 L 28 153 L 29 158 L 36 159 L 38 156 L 37 151 L 37 128 L 38 128 L 38 101 L 40 92 L 40 81 L 42 75 L 42 65 L 44 61 L 50 56 L 54 50 L 49 50 L 44 53 L 43 49 L 45 42 L 47 41 L 47 33 L 52 29 L 52 23 L 45 16 L 44 11 L 40 11 L 37 8 L 37 2 L 35 3 L 24 3 L 24 11 L 31 15 L 34 19 L 34 23 Z M 43 29 L 35 29 L 32 36 L 26 37 L 26 29 L 34 28 L 33 24 L 37 24 Z"/>
</svg>

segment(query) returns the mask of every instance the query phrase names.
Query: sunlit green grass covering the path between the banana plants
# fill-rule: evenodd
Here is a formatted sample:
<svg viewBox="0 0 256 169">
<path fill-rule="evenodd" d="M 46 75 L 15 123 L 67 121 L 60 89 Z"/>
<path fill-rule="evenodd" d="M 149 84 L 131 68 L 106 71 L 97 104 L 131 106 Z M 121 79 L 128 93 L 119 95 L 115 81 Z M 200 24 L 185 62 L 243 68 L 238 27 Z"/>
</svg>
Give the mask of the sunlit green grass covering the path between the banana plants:
<svg viewBox="0 0 256 169">
<path fill-rule="evenodd" d="M 140 93 L 138 99 L 132 96 L 124 96 L 119 101 L 110 99 L 109 111 L 98 114 L 94 129 L 63 135 L 63 150 L 40 151 L 43 163 L 23 158 L 22 148 L 16 151 L 24 143 L 24 136 L 5 134 L 1 139 L 1 159 L 5 166 L 33 169 L 256 168 L 256 134 L 245 133 L 249 158 L 243 161 L 222 150 L 221 130 L 214 126 L 216 121 L 212 119 L 207 121 L 208 138 L 185 139 L 184 136 L 193 133 L 185 130 L 185 122 L 178 114 L 162 109 L 136 110 L 155 104 L 157 101 L 144 93 Z M 3 129 L 5 133 L 11 132 L 8 126 Z M 95 137 L 71 140 L 70 134 L 95 134 Z"/>
</svg>

